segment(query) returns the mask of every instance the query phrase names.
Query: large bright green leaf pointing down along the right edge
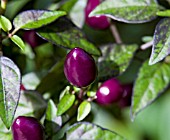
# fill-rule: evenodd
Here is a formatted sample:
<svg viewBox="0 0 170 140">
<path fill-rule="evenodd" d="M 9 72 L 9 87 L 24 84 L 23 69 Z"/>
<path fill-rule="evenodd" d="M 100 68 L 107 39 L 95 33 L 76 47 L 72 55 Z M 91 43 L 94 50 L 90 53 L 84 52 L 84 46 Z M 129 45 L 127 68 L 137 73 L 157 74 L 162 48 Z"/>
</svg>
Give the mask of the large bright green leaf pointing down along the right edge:
<svg viewBox="0 0 170 140">
<path fill-rule="evenodd" d="M 146 61 L 134 85 L 131 105 L 132 120 L 136 115 L 152 103 L 170 83 L 170 65 L 157 63 L 149 66 Z"/>
</svg>

